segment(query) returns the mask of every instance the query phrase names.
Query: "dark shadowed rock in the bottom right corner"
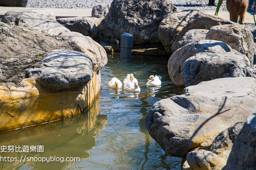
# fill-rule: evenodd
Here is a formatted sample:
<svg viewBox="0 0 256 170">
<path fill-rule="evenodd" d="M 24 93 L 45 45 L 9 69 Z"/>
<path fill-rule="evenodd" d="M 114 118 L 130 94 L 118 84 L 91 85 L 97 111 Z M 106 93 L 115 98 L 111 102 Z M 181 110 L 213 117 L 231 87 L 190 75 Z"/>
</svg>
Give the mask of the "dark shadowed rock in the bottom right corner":
<svg viewBox="0 0 256 170">
<path fill-rule="evenodd" d="M 236 137 L 227 164 L 222 170 L 256 169 L 256 116 L 251 115 Z"/>
</svg>

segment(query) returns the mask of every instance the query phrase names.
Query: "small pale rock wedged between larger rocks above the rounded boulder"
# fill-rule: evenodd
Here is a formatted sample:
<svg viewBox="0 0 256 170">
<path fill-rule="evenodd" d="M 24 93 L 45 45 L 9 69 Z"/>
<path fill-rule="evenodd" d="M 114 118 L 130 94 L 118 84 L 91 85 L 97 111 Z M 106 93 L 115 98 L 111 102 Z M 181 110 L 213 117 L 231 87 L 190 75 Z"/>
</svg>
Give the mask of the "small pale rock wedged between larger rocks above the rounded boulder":
<svg viewBox="0 0 256 170">
<path fill-rule="evenodd" d="M 191 29 L 187 31 L 182 39 L 177 42 L 178 48 L 181 48 L 184 45 L 195 42 L 197 40 L 204 40 L 207 32 L 207 29 Z"/>
</svg>

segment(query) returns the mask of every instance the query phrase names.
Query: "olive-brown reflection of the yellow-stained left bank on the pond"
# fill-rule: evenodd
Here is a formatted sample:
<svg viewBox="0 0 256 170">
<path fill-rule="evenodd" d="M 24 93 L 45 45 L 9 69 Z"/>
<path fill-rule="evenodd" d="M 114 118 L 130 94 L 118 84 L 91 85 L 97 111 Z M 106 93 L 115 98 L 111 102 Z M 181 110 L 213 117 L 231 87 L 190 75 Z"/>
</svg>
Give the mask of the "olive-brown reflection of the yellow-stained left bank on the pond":
<svg viewBox="0 0 256 170">
<path fill-rule="evenodd" d="M 0 133 L 0 146 L 44 145 L 44 153 L 1 153 L 9 157 L 79 157 L 80 161 L 90 157 L 90 150 L 95 146 L 95 137 L 108 123 L 106 115 L 100 115 L 100 96 L 83 114 L 47 124 Z M 62 170 L 72 167 L 76 161 L 44 162 L 16 161 L 0 162 L 2 170 Z"/>
</svg>

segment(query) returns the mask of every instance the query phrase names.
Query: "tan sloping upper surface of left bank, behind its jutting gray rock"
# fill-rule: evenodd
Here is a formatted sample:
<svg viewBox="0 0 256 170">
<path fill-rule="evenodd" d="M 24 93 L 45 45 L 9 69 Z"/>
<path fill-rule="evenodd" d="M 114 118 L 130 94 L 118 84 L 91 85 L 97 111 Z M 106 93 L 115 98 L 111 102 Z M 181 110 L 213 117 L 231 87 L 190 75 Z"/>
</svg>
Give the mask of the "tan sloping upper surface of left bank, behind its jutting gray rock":
<svg viewBox="0 0 256 170">
<path fill-rule="evenodd" d="M 25 68 L 41 67 L 40 61 L 45 54 L 56 49 L 83 52 L 93 60 L 94 71 L 99 71 L 108 62 L 104 48 L 78 32 L 69 31 L 52 37 L 29 27 L 9 26 L 2 22 L 0 28 L 7 30 L 0 34 L 0 53 L 6 57 L 1 63 L 2 70 L 9 70 L 3 73 L 3 82 L 10 82 L 11 79 L 15 83 L 20 82 L 25 78 Z M 13 64 L 18 66 L 13 67 Z M 14 72 L 16 74 L 11 76 Z"/>
</svg>

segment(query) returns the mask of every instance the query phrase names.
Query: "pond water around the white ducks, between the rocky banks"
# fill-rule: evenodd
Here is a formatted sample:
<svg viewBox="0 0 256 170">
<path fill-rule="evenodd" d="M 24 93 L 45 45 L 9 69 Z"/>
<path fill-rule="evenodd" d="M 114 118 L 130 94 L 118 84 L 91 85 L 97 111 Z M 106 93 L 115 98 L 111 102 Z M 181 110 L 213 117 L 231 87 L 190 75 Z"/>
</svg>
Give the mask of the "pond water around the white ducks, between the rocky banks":
<svg viewBox="0 0 256 170">
<path fill-rule="evenodd" d="M 17 158 L 17 161 L 13 162 L 0 160 L 0 169 L 180 169 L 181 159 L 165 155 L 163 149 L 149 136 L 144 124 L 148 109 L 155 102 L 180 93 L 169 79 L 167 60 L 136 56 L 132 60 L 121 61 L 118 55 L 108 56 L 108 64 L 101 70 L 101 94 L 85 113 L 43 125 L 0 133 L 1 148 L 10 151 L 4 153 L 1 150 L 0 156 Z M 141 89 L 139 94 L 108 88 L 108 81 L 112 77 L 115 76 L 122 81 L 128 73 L 133 73 L 138 79 Z M 155 74 L 162 76 L 162 85 L 148 88 L 145 85 L 147 79 Z M 43 153 L 32 152 L 33 146 L 38 145 L 44 146 Z M 21 152 L 12 152 L 10 148 L 8 150 L 8 146 L 14 146 Z M 80 161 L 41 163 L 31 159 L 23 162 L 25 156 L 79 157 Z"/>
</svg>

